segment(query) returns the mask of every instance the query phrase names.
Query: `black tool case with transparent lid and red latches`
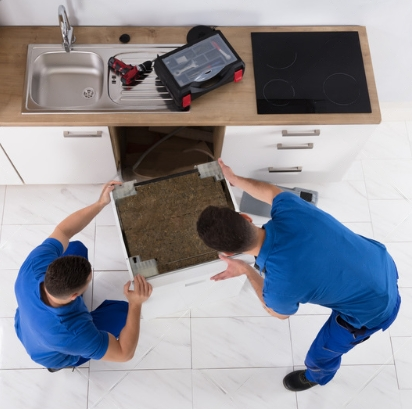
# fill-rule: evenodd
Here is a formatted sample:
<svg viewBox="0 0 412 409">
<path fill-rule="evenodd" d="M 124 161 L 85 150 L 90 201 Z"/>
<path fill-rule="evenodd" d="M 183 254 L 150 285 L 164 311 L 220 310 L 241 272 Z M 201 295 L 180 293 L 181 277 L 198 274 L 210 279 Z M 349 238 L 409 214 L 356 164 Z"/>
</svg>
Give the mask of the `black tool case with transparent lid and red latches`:
<svg viewBox="0 0 412 409">
<path fill-rule="evenodd" d="M 181 110 L 228 82 L 239 82 L 245 64 L 219 30 L 158 56 L 154 70 Z"/>
</svg>

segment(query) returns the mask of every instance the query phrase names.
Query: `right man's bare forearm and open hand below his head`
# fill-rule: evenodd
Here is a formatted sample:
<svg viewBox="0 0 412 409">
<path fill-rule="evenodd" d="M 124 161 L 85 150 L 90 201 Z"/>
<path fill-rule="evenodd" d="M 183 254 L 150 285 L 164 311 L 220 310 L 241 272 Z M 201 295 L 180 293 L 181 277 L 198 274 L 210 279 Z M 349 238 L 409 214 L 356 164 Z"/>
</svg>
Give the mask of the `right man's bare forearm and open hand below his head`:
<svg viewBox="0 0 412 409">
<path fill-rule="evenodd" d="M 211 280 L 220 281 L 226 280 L 227 278 L 237 277 L 243 274 L 246 274 L 250 284 L 252 285 L 253 289 L 256 292 L 260 302 L 263 305 L 263 308 L 270 314 L 276 318 L 281 320 L 285 320 L 289 318 L 289 315 L 282 315 L 278 314 L 277 312 L 273 311 L 272 308 L 269 308 L 265 301 L 263 300 L 263 277 L 249 264 L 246 264 L 242 260 L 234 260 L 228 258 L 223 255 L 219 255 L 220 259 L 227 263 L 227 268 L 222 273 L 216 274 L 215 276 L 211 277 Z"/>
</svg>

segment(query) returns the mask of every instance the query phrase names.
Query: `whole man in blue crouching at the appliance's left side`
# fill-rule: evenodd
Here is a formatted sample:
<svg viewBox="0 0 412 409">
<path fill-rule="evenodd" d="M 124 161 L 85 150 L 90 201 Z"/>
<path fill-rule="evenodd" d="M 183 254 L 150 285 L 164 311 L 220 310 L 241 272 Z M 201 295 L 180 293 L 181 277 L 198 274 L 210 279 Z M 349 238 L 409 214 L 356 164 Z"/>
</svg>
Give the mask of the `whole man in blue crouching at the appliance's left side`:
<svg viewBox="0 0 412 409">
<path fill-rule="evenodd" d="M 97 202 L 64 219 L 20 268 L 16 333 L 30 357 L 50 372 L 90 359 L 121 362 L 134 355 L 151 285 L 136 276 L 132 290 L 130 282 L 124 285 L 128 303 L 106 300 L 90 313 L 82 297 L 92 279 L 87 248 L 69 242 L 110 202 L 116 184 L 107 183 Z"/>
</svg>

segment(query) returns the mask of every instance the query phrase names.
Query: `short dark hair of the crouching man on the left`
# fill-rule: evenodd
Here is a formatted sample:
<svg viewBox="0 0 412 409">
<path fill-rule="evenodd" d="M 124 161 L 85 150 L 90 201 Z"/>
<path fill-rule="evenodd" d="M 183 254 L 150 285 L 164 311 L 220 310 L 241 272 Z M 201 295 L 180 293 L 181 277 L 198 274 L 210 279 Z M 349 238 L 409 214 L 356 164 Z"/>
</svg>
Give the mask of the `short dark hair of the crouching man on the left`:
<svg viewBox="0 0 412 409">
<path fill-rule="evenodd" d="M 59 257 L 47 267 L 44 286 L 53 297 L 65 298 L 86 285 L 91 271 L 92 266 L 84 257 Z"/>
</svg>

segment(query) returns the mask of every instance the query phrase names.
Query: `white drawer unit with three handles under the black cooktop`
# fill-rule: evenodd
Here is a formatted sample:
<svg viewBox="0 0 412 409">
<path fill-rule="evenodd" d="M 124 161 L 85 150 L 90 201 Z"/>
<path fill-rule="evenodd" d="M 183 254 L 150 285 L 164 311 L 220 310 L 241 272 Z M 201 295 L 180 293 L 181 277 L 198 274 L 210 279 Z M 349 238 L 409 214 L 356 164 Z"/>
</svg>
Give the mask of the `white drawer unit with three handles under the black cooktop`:
<svg viewBox="0 0 412 409">
<path fill-rule="evenodd" d="M 222 159 L 272 183 L 341 180 L 377 125 L 230 126 Z"/>
</svg>

